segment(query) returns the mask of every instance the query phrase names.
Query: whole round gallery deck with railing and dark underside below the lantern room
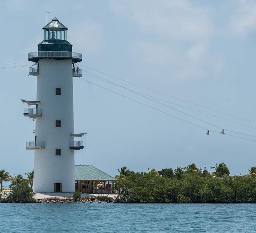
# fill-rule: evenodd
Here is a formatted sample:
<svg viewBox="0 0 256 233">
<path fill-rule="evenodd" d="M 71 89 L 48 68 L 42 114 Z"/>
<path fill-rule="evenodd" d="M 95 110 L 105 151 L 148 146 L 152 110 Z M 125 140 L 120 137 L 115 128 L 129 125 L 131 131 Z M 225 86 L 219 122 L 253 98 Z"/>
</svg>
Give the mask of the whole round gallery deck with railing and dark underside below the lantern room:
<svg viewBox="0 0 256 233">
<path fill-rule="evenodd" d="M 82 54 L 78 52 L 67 51 L 37 51 L 30 52 L 27 55 L 29 61 L 38 61 L 39 58 L 59 58 L 59 59 L 72 59 L 74 62 L 82 61 Z"/>
</svg>

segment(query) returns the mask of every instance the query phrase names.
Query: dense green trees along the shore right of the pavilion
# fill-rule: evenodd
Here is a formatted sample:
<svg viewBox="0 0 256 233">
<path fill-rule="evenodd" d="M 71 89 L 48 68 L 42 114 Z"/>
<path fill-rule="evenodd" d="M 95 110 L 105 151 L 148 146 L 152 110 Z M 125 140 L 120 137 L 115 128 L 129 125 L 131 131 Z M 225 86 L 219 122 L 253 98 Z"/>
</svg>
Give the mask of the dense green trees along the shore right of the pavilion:
<svg viewBox="0 0 256 233">
<path fill-rule="evenodd" d="M 231 176 L 225 163 L 210 169 L 194 163 L 140 173 L 122 167 L 113 189 L 125 203 L 256 203 L 255 166 L 243 176 Z"/>
</svg>

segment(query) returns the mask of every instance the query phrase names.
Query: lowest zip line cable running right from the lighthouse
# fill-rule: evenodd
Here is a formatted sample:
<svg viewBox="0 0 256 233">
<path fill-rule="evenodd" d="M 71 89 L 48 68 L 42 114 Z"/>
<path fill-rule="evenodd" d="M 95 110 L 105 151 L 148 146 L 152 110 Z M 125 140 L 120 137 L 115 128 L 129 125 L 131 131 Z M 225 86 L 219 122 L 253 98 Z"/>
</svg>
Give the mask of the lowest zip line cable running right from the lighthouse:
<svg viewBox="0 0 256 233">
<path fill-rule="evenodd" d="M 117 94 L 117 95 L 120 95 L 120 96 L 122 96 L 122 97 L 124 97 L 124 98 L 126 98 L 126 99 L 129 99 L 129 100 L 133 101 L 133 102 L 136 102 L 136 103 L 138 103 L 138 104 L 144 105 L 144 106 L 146 106 L 146 107 L 148 107 L 148 108 L 151 108 L 151 109 L 153 109 L 153 110 L 156 110 L 156 111 L 158 111 L 158 112 L 161 112 L 161 113 L 163 113 L 163 114 L 165 114 L 165 115 L 168 115 L 168 116 L 170 116 L 170 117 L 177 118 L 177 119 L 179 119 L 179 120 L 181 120 L 181 121 L 184 121 L 184 122 L 186 122 L 186 123 L 188 123 L 188 124 L 194 125 L 194 126 L 196 126 L 196 127 L 198 127 L 198 128 L 201 128 L 201 129 L 204 129 L 204 130 L 208 130 L 207 128 L 204 128 L 204 127 L 202 127 L 202 126 L 200 126 L 200 125 L 194 124 L 194 123 L 192 123 L 192 122 L 190 122 L 190 121 L 187 121 L 187 120 L 184 120 L 184 119 L 182 119 L 182 118 L 179 118 L 179 117 L 176 117 L 176 116 L 174 116 L 174 115 L 171 115 L 171 114 L 169 114 L 169 113 L 166 113 L 166 112 L 164 112 L 164 111 L 162 111 L 162 110 L 160 110 L 160 109 L 157 109 L 157 108 L 154 108 L 154 107 L 152 107 L 152 106 L 150 106 L 150 105 L 144 104 L 144 103 L 142 103 L 142 102 L 140 102 L 140 101 L 137 101 L 137 100 L 135 100 L 135 99 L 132 99 L 132 98 L 130 98 L 130 97 L 128 97 L 128 96 L 125 96 L 125 95 L 123 95 L 123 94 L 120 94 L 120 93 L 118 93 L 118 92 L 116 92 L 116 91 L 110 90 L 110 89 L 108 89 L 108 88 L 106 88 L 106 87 L 103 87 L 103 86 L 101 86 L 101 85 L 98 85 L 98 84 L 96 84 L 96 83 L 93 83 L 93 82 L 91 82 L 91 81 L 89 81 L 89 80 L 82 79 L 82 78 L 80 78 L 80 80 L 83 80 L 83 81 L 85 81 L 85 82 L 87 82 L 87 83 L 91 83 L 91 84 L 93 84 L 93 85 L 95 85 L 95 86 L 98 86 L 98 87 L 103 88 L 103 89 L 105 89 L 105 90 L 108 90 L 108 91 L 110 91 L 110 92 L 112 92 L 112 93 L 115 93 L 115 94 Z M 220 134 L 220 132 L 217 132 L 217 131 L 214 131 L 214 130 L 211 130 L 211 129 L 210 129 L 210 131 L 211 131 L 211 132 L 214 132 L 214 133 L 217 133 L 217 134 Z M 252 139 L 248 139 L 248 138 L 243 138 L 243 137 L 238 137 L 238 136 L 231 135 L 231 134 L 227 134 L 227 136 L 256 142 L 256 140 L 252 140 Z"/>
</svg>

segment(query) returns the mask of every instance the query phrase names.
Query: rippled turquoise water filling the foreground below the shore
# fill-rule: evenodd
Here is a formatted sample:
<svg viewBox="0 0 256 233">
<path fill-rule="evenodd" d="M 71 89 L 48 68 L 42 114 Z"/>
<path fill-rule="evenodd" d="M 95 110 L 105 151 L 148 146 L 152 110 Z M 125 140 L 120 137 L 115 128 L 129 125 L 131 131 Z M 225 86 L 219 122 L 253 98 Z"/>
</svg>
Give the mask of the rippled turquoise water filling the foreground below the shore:
<svg viewBox="0 0 256 233">
<path fill-rule="evenodd" d="M 0 232 L 256 232 L 255 204 L 0 204 Z"/>
</svg>

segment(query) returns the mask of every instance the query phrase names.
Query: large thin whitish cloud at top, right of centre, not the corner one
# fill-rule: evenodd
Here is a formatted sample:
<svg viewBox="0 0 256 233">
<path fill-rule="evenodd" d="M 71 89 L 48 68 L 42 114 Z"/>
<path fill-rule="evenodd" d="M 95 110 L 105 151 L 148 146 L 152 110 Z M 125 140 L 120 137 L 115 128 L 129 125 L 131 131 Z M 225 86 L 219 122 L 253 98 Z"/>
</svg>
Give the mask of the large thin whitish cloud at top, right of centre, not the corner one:
<svg viewBox="0 0 256 233">
<path fill-rule="evenodd" d="M 130 51 L 140 61 L 166 69 L 175 66 L 175 77 L 182 79 L 216 73 L 217 63 L 222 67 L 210 52 L 215 35 L 210 9 L 187 0 L 112 1 L 111 9 L 139 27 L 139 40 L 131 42 Z"/>
</svg>

